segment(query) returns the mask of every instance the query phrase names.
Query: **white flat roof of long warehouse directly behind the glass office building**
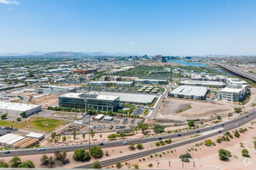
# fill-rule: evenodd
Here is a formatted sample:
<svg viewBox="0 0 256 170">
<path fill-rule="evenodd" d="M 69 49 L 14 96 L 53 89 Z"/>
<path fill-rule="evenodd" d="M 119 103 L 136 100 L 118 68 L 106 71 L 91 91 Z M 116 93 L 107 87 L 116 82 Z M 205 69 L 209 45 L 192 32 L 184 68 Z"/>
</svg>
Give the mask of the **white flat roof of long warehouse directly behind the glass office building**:
<svg viewBox="0 0 256 170">
<path fill-rule="evenodd" d="M 89 94 L 102 94 L 119 97 L 119 101 L 126 103 L 148 104 L 151 103 L 157 95 L 144 93 L 116 93 L 116 92 L 99 92 L 91 91 Z"/>
</svg>

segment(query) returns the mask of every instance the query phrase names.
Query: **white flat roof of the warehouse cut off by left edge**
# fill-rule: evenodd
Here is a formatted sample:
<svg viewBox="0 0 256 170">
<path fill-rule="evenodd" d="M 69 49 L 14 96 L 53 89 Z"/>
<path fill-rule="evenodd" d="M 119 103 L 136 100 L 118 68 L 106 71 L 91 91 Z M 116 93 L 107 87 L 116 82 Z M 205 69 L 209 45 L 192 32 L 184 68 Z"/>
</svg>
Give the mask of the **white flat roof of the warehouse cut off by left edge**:
<svg viewBox="0 0 256 170">
<path fill-rule="evenodd" d="M 41 107 L 41 106 L 36 104 L 19 104 L 14 102 L 0 101 L 0 109 L 26 111 L 36 107 Z"/>
</svg>

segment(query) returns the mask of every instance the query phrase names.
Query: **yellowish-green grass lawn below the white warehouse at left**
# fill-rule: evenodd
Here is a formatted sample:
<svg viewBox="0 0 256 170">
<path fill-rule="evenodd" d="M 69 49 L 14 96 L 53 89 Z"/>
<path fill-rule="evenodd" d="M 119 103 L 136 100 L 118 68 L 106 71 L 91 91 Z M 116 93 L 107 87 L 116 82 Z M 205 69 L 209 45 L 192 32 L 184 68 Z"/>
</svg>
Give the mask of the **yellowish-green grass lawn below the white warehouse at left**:
<svg viewBox="0 0 256 170">
<path fill-rule="evenodd" d="M 0 126 L 9 126 L 13 128 L 29 128 L 31 130 L 39 131 L 54 131 L 60 125 L 67 124 L 67 121 L 59 121 L 56 119 L 47 119 L 44 117 L 31 117 L 28 121 L 12 122 L 12 121 L 0 121 Z"/>
</svg>

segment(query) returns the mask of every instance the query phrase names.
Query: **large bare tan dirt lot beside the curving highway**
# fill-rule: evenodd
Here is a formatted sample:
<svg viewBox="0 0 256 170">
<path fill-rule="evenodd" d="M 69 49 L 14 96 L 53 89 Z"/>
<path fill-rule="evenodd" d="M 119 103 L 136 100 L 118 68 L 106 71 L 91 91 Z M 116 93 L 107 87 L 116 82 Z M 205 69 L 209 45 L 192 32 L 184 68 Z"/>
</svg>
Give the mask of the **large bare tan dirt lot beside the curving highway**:
<svg viewBox="0 0 256 170">
<path fill-rule="evenodd" d="M 189 105 L 191 105 L 191 108 L 189 108 Z M 165 99 L 155 118 L 186 121 L 188 118 L 208 118 L 215 114 L 229 112 L 234 112 L 234 108 L 232 106 L 205 103 L 195 100 Z"/>
</svg>

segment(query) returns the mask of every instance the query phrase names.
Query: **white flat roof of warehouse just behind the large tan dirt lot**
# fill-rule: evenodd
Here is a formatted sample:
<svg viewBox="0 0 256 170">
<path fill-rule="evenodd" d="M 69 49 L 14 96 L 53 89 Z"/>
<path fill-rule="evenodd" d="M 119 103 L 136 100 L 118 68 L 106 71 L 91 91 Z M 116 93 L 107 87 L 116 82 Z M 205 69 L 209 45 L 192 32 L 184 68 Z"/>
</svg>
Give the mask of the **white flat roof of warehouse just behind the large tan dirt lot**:
<svg viewBox="0 0 256 170">
<path fill-rule="evenodd" d="M 179 86 L 171 93 L 178 93 L 187 96 L 205 96 L 207 93 L 207 87 L 194 87 L 194 86 Z"/>
</svg>

